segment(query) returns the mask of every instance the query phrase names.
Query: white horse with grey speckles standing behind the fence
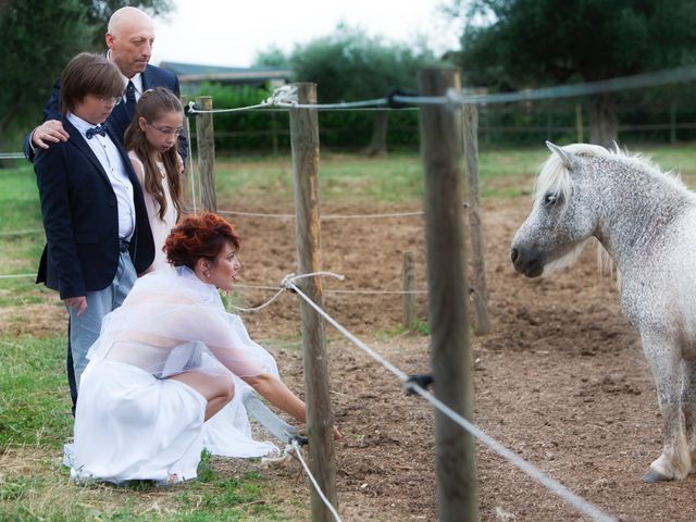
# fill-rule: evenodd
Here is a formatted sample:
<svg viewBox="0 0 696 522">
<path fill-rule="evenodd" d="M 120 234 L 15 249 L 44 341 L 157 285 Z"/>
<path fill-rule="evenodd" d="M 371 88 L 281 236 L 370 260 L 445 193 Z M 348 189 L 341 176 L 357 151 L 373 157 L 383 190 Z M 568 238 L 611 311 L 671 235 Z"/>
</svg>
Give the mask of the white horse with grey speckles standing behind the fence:
<svg viewBox="0 0 696 522">
<path fill-rule="evenodd" d="M 571 264 L 592 236 L 621 272 L 621 306 L 657 385 L 662 453 L 645 482 L 696 472 L 696 195 L 639 156 L 546 142 L 534 207 L 512 240 L 527 277 Z"/>
</svg>

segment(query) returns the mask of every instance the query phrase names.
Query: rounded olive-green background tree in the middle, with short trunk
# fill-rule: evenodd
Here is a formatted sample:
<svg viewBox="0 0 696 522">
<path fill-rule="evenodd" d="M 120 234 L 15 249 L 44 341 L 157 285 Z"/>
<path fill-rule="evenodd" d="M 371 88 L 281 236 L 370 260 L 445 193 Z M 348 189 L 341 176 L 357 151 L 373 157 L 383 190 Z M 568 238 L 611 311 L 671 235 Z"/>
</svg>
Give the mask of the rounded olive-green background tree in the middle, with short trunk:
<svg viewBox="0 0 696 522">
<path fill-rule="evenodd" d="M 331 36 L 296 47 L 289 58 L 298 80 L 319 85 L 320 103 L 382 98 L 395 87 L 414 88 L 417 72 L 433 62 L 427 50 L 414 52 L 344 25 Z M 377 111 L 368 156 L 386 153 L 387 126 L 388 112 Z"/>
</svg>

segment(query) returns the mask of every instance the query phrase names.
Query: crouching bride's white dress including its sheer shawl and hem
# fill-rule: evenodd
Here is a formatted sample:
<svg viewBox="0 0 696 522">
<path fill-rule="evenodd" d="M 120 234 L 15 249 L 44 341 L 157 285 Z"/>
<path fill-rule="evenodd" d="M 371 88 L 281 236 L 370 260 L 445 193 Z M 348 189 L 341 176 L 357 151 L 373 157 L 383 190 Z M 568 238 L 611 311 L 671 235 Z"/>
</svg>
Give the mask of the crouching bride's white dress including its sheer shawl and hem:
<svg viewBox="0 0 696 522">
<path fill-rule="evenodd" d="M 139 278 L 104 319 L 88 358 L 65 448 L 73 478 L 181 481 L 196 477 L 203 447 L 231 457 L 277 451 L 252 439 L 243 405 L 251 388 L 239 378 L 277 375 L 275 361 L 187 268 Z M 184 371 L 232 373 L 234 400 L 204 423 L 206 399 L 166 378 Z"/>
</svg>

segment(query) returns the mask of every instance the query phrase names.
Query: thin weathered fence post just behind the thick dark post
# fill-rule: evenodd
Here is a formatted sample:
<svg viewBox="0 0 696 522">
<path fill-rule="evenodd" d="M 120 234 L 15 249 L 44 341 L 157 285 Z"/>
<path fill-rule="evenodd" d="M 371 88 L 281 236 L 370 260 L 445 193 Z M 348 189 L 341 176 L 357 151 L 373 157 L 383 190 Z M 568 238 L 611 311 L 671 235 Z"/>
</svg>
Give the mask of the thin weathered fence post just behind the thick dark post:
<svg viewBox="0 0 696 522">
<path fill-rule="evenodd" d="M 490 330 L 488 322 L 488 286 L 486 284 L 485 244 L 481 223 L 478 200 L 478 112 L 476 105 L 462 109 L 464 130 L 464 158 L 467 160 L 467 201 L 469 203 L 469 229 L 471 231 L 471 266 L 473 270 L 473 297 L 476 307 L 474 333 L 485 335 Z"/>
</svg>

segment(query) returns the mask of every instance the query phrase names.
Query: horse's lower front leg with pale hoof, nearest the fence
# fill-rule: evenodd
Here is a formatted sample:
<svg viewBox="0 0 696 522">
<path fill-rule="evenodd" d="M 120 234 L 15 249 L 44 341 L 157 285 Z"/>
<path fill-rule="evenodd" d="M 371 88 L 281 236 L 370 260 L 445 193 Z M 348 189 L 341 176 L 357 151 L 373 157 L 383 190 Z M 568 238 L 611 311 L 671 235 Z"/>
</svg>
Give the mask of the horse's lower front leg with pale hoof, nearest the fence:
<svg viewBox="0 0 696 522">
<path fill-rule="evenodd" d="M 643 481 L 681 480 L 688 475 L 692 467 L 682 410 L 681 351 L 674 339 L 668 336 L 641 332 L 641 337 L 657 386 L 664 436 L 662 455 L 650 464 Z"/>
</svg>

